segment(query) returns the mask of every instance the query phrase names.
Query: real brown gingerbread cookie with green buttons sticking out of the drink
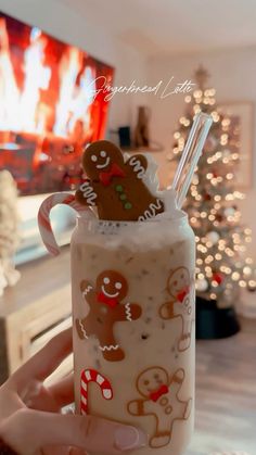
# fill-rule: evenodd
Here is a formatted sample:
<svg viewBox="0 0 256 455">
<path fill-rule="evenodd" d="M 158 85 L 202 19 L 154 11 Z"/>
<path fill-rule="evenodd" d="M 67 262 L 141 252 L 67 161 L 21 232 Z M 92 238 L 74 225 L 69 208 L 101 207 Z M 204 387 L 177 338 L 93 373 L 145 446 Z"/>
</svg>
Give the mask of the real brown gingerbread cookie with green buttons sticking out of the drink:
<svg viewBox="0 0 256 455">
<path fill-rule="evenodd" d="M 125 161 L 121 151 L 106 140 L 91 143 L 82 155 L 88 179 L 76 191 L 82 205 L 95 205 L 100 219 L 144 220 L 164 212 L 143 177 L 148 161 L 137 154 Z"/>
</svg>

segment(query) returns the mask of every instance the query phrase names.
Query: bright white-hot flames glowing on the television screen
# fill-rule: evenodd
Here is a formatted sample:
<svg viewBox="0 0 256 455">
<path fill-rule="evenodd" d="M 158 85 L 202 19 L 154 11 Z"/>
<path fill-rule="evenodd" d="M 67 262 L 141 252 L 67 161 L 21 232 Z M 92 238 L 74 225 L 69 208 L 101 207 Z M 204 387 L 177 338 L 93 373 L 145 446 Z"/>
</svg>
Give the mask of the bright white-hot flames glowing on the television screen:
<svg viewBox="0 0 256 455">
<path fill-rule="evenodd" d="M 48 90 L 52 69 L 46 61 L 47 40 L 41 30 L 31 28 L 30 42 L 24 52 L 24 83 L 18 88 L 9 46 L 7 24 L 0 18 L 0 129 L 43 134 L 47 131 L 47 104 L 40 101 L 40 91 Z M 69 137 L 77 122 L 90 128 L 90 106 L 95 90 L 95 69 L 86 65 L 84 53 L 68 47 L 59 64 L 60 88 L 55 109 L 53 131 L 56 136 Z M 79 84 L 77 85 L 77 78 Z"/>
</svg>

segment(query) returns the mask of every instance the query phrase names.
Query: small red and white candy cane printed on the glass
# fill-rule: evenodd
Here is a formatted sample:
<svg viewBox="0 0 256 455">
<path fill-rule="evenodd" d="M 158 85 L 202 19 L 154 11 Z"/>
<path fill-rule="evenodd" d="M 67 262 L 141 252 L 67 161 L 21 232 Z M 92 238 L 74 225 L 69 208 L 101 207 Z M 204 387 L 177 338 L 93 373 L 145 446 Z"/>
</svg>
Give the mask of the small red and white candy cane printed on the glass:
<svg viewBox="0 0 256 455">
<path fill-rule="evenodd" d="M 81 401 L 80 401 L 80 412 L 81 414 L 87 414 L 88 410 L 88 384 L 89 382 L 95 382 L 101 388 L 102 396 L 105 400 L 112 400 L 113 390 L 110 381 L 98 372 L 95 369 L 87 368 L 81 372 Z"/>
</svg>

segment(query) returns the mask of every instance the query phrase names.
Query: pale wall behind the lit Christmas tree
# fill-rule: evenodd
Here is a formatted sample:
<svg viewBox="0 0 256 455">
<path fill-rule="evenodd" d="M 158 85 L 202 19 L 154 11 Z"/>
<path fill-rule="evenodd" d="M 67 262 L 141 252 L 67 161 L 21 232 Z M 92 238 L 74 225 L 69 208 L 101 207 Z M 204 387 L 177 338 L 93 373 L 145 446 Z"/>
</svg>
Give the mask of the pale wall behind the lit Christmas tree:
<svg viewBox="0 0 256 455">
<path fill-rule="evenodd" d="M 175 81 L 180 83 L 193 77 L 194 69 L 202 63 L 209 74 L 209 85 L 217 90 L 217 102 L 223 101 L 251 101 L 256 103 L 256 48 L 240 50 L 223 50 L 207 52 L 196 55 L 183 55 L 175 58 L 155 58 L 149 62 L 149 81 L 156 84 L 175 76 Z M 151 135 L 159 139 L 165 146 L 165 153 L 159 155 L 162 181 L 168 181 L 168 163 L 166 153 L 171 151 L 172 134 L 178 119 L 184 111 L 184 94 L 171 94 L 159 99 L 158 96 L 150 96 L 152 110 Z M 254 186 L 247 192 L 246 200 L 241 203 L 243 222 L 254 232 L 253 254 L 256 258 L 256 115 L 253 121 L 253 167 Z"/>
</svg>

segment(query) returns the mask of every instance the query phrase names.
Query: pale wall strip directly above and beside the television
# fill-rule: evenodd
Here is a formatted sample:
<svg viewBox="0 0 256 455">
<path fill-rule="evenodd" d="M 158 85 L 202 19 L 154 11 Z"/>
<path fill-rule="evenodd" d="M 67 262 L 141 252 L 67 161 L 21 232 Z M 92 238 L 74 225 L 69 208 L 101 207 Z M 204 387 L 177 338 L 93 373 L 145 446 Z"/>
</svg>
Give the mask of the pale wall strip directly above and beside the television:
<svg viewBox="0 0 256 455">
<path fill-rule="evenodd" d="M 56 0 L 0 0 L 0 10 L 25 23 L 36 25 L 43 31 L 67 43 L 85 49 L 91 55 L 116 68 L 115 84 L 130 84 L 133 78 L 144 80 L 145 60 L 131 48 L 117 41 L 111 29 L 93 24 Z M 108 126 L 116 128 L 133 122 L 138 96 L 114 97 Z"/>
</svg>

